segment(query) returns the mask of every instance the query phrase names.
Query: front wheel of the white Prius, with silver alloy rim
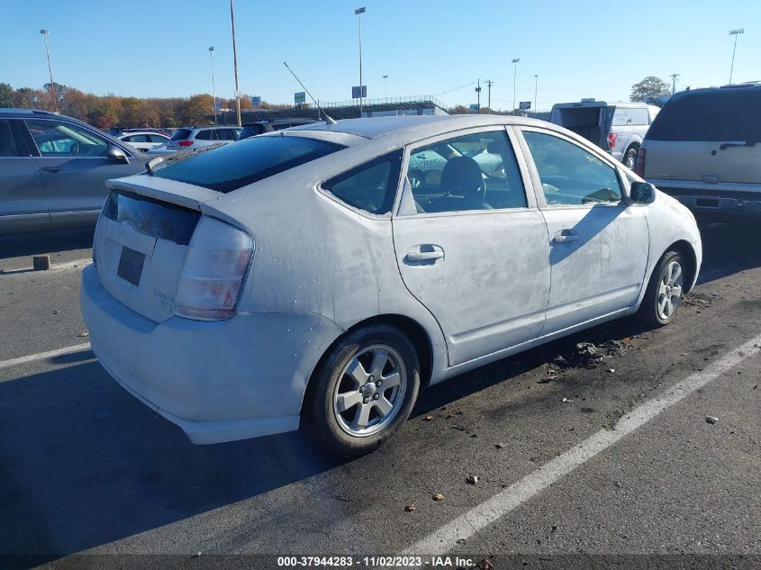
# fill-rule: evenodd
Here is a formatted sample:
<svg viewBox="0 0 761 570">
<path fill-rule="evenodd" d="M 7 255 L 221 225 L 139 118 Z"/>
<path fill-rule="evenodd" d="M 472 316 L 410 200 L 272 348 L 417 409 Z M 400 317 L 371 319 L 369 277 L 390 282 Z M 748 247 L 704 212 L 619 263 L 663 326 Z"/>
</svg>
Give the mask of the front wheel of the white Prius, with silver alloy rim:
<svg viewBox="0 0 761 570">
<path fill-rule="evenodd" d="M 681 253 L 674 249 L 666 251 L 650 276 L 648 290 L 639 306 L 640 321 L 655 329 L 674 320 L 684 294 L 686 269 Z"/>
</svg>

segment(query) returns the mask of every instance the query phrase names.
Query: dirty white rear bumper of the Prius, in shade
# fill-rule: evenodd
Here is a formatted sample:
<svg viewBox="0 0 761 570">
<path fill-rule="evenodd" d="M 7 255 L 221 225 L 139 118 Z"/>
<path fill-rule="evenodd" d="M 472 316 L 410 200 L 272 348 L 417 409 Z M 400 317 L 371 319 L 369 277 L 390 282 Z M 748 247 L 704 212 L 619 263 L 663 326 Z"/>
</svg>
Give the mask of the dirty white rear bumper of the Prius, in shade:
<svg viewBox="0 0 761 570">
<path fill-rule="evenodd" d="M 157 323 L 82 275 L 82 312 L 104 369 L 197 444 L 296 430 L 313 368 L 342 330 L 312 313 Z"/>
</svg>

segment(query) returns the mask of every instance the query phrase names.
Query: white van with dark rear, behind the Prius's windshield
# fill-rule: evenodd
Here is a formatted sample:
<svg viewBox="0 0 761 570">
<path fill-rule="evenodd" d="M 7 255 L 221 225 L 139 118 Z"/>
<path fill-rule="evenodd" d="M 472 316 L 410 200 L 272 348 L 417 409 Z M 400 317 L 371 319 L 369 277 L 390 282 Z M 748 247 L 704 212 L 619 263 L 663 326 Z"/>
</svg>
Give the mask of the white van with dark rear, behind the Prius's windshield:
<svg viewBox="0 0 761 570">
<path fill-rule="evenodd" d="M 645 103 L 558 103 L 549 122 L 591 140 L 633 170 L 639 145 L 658 111 L 657 106 Z"/>
</svg>

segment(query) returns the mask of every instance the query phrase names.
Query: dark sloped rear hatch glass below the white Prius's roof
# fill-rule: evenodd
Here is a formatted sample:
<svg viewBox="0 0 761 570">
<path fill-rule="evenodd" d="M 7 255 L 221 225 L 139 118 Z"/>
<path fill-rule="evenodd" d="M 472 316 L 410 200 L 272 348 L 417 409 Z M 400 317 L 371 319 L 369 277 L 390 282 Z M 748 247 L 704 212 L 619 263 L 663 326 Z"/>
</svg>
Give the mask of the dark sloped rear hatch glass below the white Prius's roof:
<svg viewBox="0 0 761 570">
<path fill-rule="evenodd" d="M 227 194 L 343 148 L 302 137 L 253 137 L 159 165 L 152 174 Z"/>
</svg>

